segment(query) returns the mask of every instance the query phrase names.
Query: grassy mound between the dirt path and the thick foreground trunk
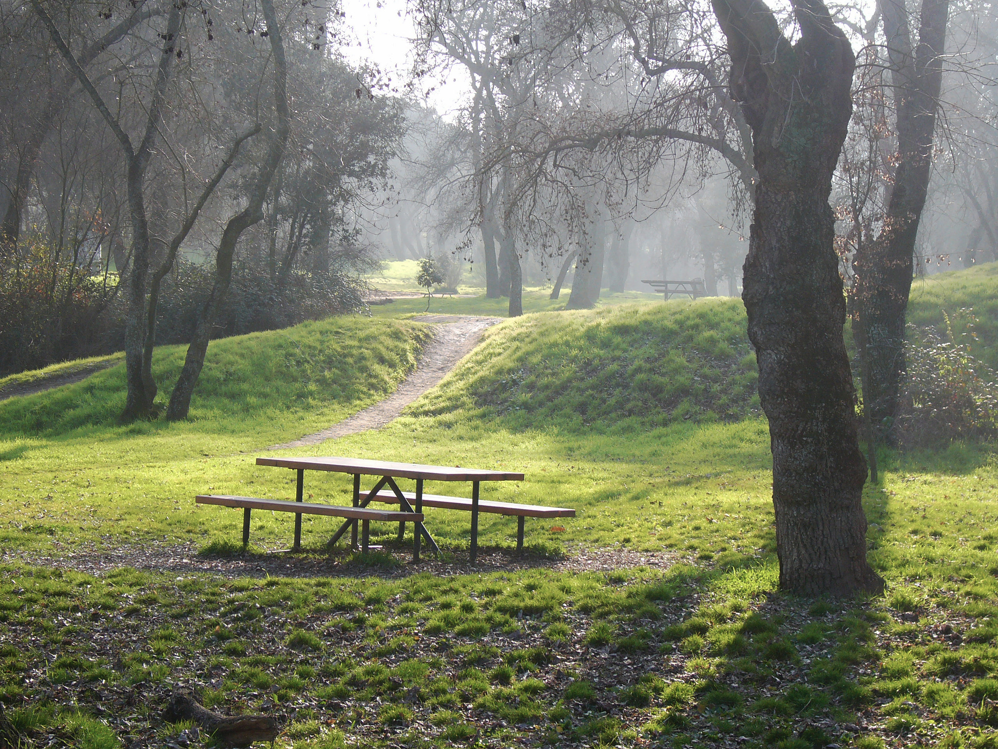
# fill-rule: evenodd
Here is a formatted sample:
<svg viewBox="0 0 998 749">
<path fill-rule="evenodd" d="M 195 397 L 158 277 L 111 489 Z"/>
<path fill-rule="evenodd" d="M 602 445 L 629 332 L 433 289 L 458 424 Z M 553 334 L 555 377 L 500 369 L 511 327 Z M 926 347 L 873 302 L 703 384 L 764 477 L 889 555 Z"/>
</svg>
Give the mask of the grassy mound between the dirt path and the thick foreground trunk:
<svg viewBox="0 0 998 749">
<path fill-rule="evenodd" d="M 605 431 L 757 412 L 737 299 L 532 315 L 486 334 L 417 415 Z"/>
</svg>

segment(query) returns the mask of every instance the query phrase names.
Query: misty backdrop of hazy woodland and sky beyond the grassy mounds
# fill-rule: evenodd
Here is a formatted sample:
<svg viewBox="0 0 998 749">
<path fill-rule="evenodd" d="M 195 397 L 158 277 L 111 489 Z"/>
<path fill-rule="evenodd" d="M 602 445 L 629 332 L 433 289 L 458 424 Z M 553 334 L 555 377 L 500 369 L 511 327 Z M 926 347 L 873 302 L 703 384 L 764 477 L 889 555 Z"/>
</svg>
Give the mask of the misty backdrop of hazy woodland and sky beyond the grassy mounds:
<svg viewBox="0 0 998 749">
<path fill-rule="evenodd" d="M 140 327 L 186 343 L 363 311 L 384 260 L 463 268 L 511 315 L 524 287 L 570 308 L 649 280 L 741 295 L 757 175 L 709 4 L 172 8 L 0 0 L 3 372 L 117 351 Z M 918 277 L 998 259 L 998 18 L 948 13 Z M 848 289 L 891 221 L 908 94 L 879 6 L 833 17 L 858 61 L 829 196 Z"/>
</svg>

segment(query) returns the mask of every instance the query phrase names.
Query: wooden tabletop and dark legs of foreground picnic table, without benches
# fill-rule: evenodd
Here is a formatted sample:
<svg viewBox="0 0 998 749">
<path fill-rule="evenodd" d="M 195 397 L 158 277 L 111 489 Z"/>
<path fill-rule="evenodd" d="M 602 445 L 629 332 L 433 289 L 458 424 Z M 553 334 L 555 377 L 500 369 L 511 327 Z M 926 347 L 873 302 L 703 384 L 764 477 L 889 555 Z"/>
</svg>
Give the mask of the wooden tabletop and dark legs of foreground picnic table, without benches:
<svg viewBox="0 0 998 749">
<path fill-rule="evenodd" d="M 278 468 L 290 468 L 297 471 L 297 488 L 295 491 L 295 501 L 302 501 L 304 496 L 304 472 L 306 470 L 328 470 L 337 473 L 351 473 L 353 475 L 353 506 L 363 508 L 378 497 L 379 492 L 385 486 L 389 487 L 400 507 L 407 511 L 421 515 L 423 506 L 423 482 L 424 481 L 471 481 L 471 554 L 472 562 L 478 551 L 478 511 L 479 511 L 479 486 L 482 481 L 522 481 L 523 473 L 508 470 L 487 470 L 481 468 L 462 468 L 460 466 L 445 465 L 423 465 L 420 463 L 403 463 L 391 460 L 370 460 L 358 457 L 257 457 L 257 465 L 272 465 Z M 373 475 L 380 476 L 375 481 L 373 488 L 362 492 L 360 489 L 360 476 Z M 396 482 L 396 478 L 415 479 L 415 492 L 403 492 Z M 406 496 L 409 494 L 409 496 Z M 410 503 L 409 499 L 412 499 Z M 381 500 L 383 501 L 383 499 Z M 420 539 L 425 537 L 433 548 L 437 556 L 440 555 L 440 548 L 437 546 L 433 536 L 426 530 L 422 518 L 414 521 L 415 530 L 413 532 L 413 559 L 419 559 Z M 404 527 L 404 526 L 400 526 Z M 335 543 L 340 536 L 346 532 L 347 528 L 352 528 L 351 541 L 357 541 L 357 519 L 347 519 L 340 525 L 336 533 L 329 539 L 329 543 Z M 402 530 L 399 530 L 401 534 Z M 301 515 L 297 514 L 294 521 L 294 546 L 297 548 L 301 539 Z"/>
</svg>

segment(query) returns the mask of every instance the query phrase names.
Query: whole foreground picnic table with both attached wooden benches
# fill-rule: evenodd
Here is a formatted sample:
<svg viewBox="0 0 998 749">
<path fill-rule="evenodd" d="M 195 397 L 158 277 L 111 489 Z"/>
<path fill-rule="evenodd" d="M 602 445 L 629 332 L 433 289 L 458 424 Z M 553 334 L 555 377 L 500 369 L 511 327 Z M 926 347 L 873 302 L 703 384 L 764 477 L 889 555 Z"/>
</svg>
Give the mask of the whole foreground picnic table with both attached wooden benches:
<svg viewBox="0 0 998 749">
<path fill-rule="evenodd" d="M 471 553 L 470 560 L 475 561 L 478 551 L 478 514 L 489 512 L 517 517 L 517 550 L 523 550 L 524 518 L 526 517 L 575 517 L 575 510 L 569 507 L 548 507 L 535 504 L 519 504 L 516 502 L 494 502 L 479 498 L 479 488 L 482 481 L 522 481 L 524 474 L 517 471 L 487 470 L 481 468 L 464 468 L 460 466 L 423 465 L 420 463 L 403 463 L 389 460 L 370 460 L 356 457 L 257 457 L 257 465 L 271 465 L 280 468 L 291 468 L 297 471 L 297 486 L 294 501 L 286 499 L 263 499 L 251 496 L 233 496 L 229 494 L 200 494 L 197 501 L 200 504 L 217 504 L 225 507 L 242 507 L 243 543 L 250 540 L 250 510 L 270 509 L 283 512 L 294 512 L 294 548 L 301 545 L 301 514 L 329 515 L 346 518 L 339 529 L 329 539 L 329 545 L 334 544 L 347 530 L 351 531 L 351 543 L 357 543 L 357 524 L 360 523 L 361 549 L 366 552 L 369 547 L 370 521 L 380 520 L 398 522 L 398 539 L 402 540 L 405 533 L 405 523 L 413 523 L 413 561 L 419 560 L 420 544 L 426 539 L 437 557 L 440 548 L 433 536 L 426 530 L 423 521 L 423 507 L 440 507 L 444 509 L 468 510 L 471 512 Z M 353 501 L 350 506 L 336 504 L 319 504 L 305 502 L 304 472 L 305 470 L 326 470 L 353 475 Z M 374 486 L 361 491 L 362 475 L 380 476 Z M 414 479 L 415 491 L 402 491 L 396 479 Z M 470 481 L 471 497 L 443 496 L 441 494 L 426 494 L 423 492 L 424 481 Z M 398 504 L 398 510 L 371 509 L 367 505 L 372 502 Z"/>
</svg>

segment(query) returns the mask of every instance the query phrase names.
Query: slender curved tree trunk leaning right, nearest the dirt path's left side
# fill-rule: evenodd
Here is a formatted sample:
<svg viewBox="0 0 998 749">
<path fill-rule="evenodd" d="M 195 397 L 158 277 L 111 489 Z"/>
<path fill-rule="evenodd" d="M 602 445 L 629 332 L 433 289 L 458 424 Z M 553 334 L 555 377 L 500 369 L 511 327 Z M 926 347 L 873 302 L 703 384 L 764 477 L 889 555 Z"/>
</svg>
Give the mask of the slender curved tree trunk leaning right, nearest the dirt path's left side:
<svg viewBox="0 0 998 749">
<path fill-rule="evenodd" d="M 205 355 L 208 353 L 212 329 L 215 327 L 219 311 L 229 293 L 229 285 L 233 278 L 233 259 L 236 255 L 236 245 L 243 232 L 263 219 L 263 201 L 270 189 L 270 181 L 273 179 L 284 154 L 284 144 L 287 142 L 289 114 L 287 108 L 287 64 L 284 60 L 284 47 L 280 38 L 280 27 L 277 25 L 276 15 L 273 11 L 272 0 L 260 0 L 260 6 L 263 11 L 263 19 L 266 21 L 270 50 L 273 53 L 273 99 L 277 123 L 270 134 L 266 155 L 256 175 L 255 184 L 250 193 L 250 204 L 229 220 L 222 233 L 222 241 L 219 243 L 219 254 L 216 259 L 215 284 L 198 318 L 194 338 L 188 347 L 187 357 L 184 359 L 184 367 L 174 385 L 174 391 L 170 395 L 170 403 L 167 405 L 167 418 L 172 421 L 187 418 L 191 409 L 191 396 L 194 394 L 194 387 L 198 383 L 202 368 L 205 366 Z"/>
</svg>

